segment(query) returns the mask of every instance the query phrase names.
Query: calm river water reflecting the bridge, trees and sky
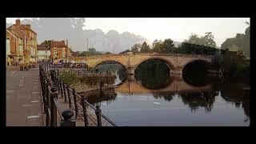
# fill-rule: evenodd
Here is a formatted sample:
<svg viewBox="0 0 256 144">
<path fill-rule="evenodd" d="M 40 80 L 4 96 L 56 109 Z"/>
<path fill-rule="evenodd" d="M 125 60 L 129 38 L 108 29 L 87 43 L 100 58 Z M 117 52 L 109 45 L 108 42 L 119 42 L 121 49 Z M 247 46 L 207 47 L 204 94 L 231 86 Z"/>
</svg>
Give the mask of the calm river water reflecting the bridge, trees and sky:
<svg viewBox="0 0 256 144">
<path fill-rule="evenodd" d="M 250 98 L 243 90 L 249 87 L 246 82 L 200 75 L 199 80 L 187 80 L 164 70 L 135 71 L 130 76 L 115 65 L 98 69 L 117 75 L 116 94 L 88 101 L 100 105 L 102 113 L 118 126 L 250 126 Z"/>
</svg>

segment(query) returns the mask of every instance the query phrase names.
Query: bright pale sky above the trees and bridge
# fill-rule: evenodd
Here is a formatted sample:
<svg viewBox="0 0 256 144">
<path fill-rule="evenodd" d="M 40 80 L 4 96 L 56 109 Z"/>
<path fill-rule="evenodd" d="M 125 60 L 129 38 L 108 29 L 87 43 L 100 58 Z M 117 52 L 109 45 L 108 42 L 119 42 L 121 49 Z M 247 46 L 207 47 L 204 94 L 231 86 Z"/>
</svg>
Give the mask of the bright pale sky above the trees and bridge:
<svg viewBox="0 0 256 144">
<path fill-rule="evenodd" d="M 6 18 L 14 23 L 16 18 Z M 21 18 L 21 20 L 24 18 Z M 193 34 L 214 34 L 214 41 L 221 46 L 226 38 L 233 38 L 237 33 L 244 33 L 250 18 L 86 18 L 86 30 L 101 29 L 103 32 L 117 30 L 119 33 L 130 32 L 149 39 L 171 38 L 183 42 Z"/>
</svg>

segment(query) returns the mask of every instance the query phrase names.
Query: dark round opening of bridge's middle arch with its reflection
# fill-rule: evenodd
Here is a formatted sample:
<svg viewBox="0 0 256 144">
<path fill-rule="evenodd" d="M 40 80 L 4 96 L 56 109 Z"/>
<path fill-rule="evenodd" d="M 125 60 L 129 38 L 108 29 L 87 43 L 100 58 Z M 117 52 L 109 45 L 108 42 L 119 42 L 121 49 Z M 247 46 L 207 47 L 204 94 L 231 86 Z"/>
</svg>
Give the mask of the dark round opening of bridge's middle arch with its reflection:
<svg viewBox="0 0 256 144">
<path fill-rule="evenodd" d="M 146 89 L 158 90 L 168 86 L 171 65 L 159 58 L 149 58 L 134 70 L 134 78 Z"/>
</svg>

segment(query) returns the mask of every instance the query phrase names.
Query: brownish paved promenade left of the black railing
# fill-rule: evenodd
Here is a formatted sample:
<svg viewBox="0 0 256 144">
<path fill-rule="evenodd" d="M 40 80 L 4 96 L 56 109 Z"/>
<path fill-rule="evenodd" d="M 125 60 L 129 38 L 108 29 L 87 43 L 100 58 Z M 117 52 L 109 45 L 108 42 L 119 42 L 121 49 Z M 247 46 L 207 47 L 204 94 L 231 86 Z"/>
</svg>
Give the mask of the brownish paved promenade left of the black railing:
<svg viewBox="0 0 256 144">
<path fill-rule="evenodd" d="M 6 126 L 43 126 L 37 68 L 6 68 Z"/>
</svg>

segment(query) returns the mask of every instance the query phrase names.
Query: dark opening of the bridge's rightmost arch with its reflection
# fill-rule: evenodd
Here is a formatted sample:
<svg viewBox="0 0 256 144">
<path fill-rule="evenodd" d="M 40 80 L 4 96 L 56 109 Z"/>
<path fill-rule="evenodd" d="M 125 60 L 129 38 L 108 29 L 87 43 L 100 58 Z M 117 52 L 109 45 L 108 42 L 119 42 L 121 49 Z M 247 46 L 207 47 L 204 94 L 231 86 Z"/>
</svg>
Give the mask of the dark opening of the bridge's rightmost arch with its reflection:
<svg viewBox="0 0 256 144">
<path fill-rule="evenodd" d="M 210 77 L 207 76 L 207 66 L 210 62 L 203 59 L 195 59 L 187 62 L 182 67 L 182 78 L 191 86 L 206 86 L 210 83 Z"/>
</svg>

